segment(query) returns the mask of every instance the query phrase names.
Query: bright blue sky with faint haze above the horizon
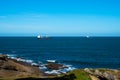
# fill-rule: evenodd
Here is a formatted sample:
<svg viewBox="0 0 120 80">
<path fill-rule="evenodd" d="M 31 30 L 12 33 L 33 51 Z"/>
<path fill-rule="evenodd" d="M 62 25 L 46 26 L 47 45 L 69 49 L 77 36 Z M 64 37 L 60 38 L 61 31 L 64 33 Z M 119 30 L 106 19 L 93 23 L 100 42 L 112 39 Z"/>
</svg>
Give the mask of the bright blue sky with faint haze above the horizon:
<svg viewBox="0 0 120 80">
<path fill-rule="evenodd" d="M 0 36 L 120 36 L 120 0 L 0 0 Z"/>
</svg>

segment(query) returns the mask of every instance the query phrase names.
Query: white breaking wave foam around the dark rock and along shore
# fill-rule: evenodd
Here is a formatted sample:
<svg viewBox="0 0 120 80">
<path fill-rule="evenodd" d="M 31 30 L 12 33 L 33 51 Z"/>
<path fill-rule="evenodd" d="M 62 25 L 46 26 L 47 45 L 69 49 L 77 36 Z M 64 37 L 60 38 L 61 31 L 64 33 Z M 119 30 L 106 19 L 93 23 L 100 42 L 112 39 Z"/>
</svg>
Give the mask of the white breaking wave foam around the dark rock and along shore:
<svg viewBox="0 0 120 80">
<path fill-rule="evenodd" d="M 39 66 L 39 69 L 43 70 L 46 74 L 56 74 L 56 75 L 59 75 L 59 74 L 65 74 L 65 73 L 67 73 L 69 71 L 72 71 L 72 70 L 76 69 L 72 65 L 63 64 L 63 67 L 65 67 L 63 69 L 49 70 L 45 66 L 46 64 L 42 64 L 42 62 L 35 63 L 35 62 L 33 62 L 33 60 L 26 60 L 26 59 L 23 59 L 23 58 L 17 58 L 16 55 L 12 55 L 12 54 L 7 54 L 7 55 L 11 59 L 15 59 L 17 61 L 22 61 L 22 62 L 30 63 L 32 66 Z M 46 60 L 46 61 L 47 62 L 52 62 L 52 63 L 56 62 L 56 60 Z"/>
</svg>

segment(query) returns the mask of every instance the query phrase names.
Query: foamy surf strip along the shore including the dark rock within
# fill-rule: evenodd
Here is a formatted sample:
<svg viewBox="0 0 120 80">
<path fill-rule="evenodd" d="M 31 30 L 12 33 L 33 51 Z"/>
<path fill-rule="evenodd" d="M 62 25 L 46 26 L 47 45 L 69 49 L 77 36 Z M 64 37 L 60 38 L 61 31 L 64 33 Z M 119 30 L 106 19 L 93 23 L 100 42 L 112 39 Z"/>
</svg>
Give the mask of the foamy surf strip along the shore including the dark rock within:
<svg viewBox="0 0 120 80">
<path fill-rule="evenodd" d="M 53 60 L 46 60 L 46 63 L 43 64 L 42 62 L 35 63 L 32 60 L 26 60 L 20 57 L 13 57 L 7 54 L 5 55 L 8 59 L 19 63 L 24 66 L 30 66 L 30 67 L 37 67 L 39 70 L 43 71 L 46 75 L 59 75 L 59 74 L 65 74 L 69 71 L 72 71 L 76 68 L 74 68 L 72 65 L 64 65 L 60 64 Z"/>
</svg>

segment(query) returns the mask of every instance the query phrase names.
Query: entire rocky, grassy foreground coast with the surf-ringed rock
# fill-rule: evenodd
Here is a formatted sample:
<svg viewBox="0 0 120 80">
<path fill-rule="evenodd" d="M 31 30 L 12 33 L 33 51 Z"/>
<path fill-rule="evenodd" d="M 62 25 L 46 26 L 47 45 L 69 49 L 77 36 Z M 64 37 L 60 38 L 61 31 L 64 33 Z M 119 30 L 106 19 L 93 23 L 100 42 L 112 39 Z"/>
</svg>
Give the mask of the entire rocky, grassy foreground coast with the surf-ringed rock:
<svg viewBox="0 0 120 80">
<path fill-rule="evenodd" d="M 104 68 L 69 69 L 59 63 L 45 68 L 0 54 L 0 80 L 120 80 L 120 70 Z M 47 71 L 47 69 L 49 71 Z"/>
</svg>

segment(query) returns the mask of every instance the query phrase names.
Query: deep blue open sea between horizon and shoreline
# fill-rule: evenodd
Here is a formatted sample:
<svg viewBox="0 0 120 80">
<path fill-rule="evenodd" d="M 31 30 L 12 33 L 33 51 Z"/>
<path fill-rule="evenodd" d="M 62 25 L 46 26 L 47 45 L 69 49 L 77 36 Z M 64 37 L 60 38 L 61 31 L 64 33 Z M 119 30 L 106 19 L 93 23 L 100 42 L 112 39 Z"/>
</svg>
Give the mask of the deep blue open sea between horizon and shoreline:
<svg viewBox="0 0 120 80">
<path fill-rule="evenodd" d="M 76 68 L 120 69 L 120 37 L 0 37 L 0 53 Z"/>
</svg>

